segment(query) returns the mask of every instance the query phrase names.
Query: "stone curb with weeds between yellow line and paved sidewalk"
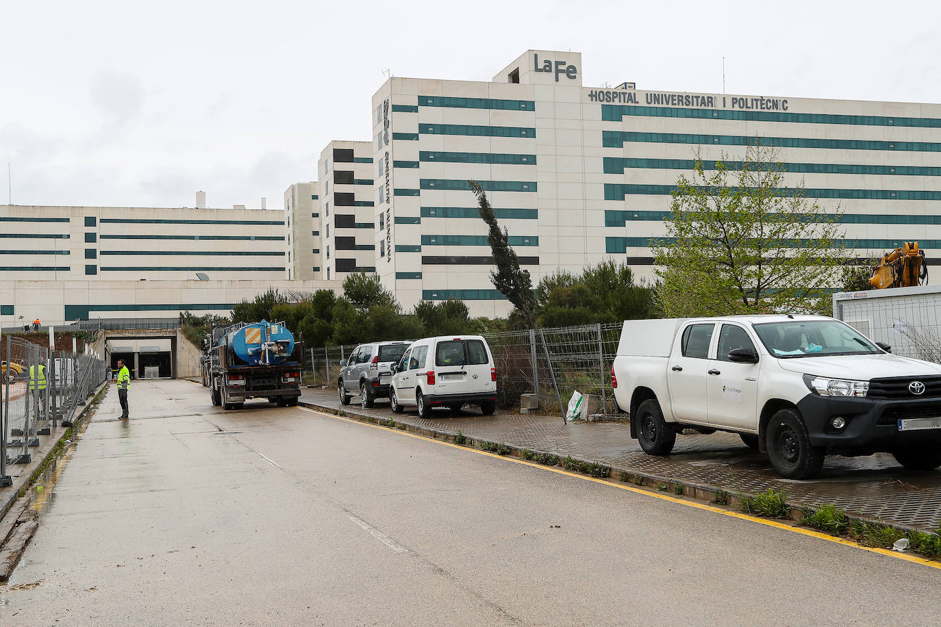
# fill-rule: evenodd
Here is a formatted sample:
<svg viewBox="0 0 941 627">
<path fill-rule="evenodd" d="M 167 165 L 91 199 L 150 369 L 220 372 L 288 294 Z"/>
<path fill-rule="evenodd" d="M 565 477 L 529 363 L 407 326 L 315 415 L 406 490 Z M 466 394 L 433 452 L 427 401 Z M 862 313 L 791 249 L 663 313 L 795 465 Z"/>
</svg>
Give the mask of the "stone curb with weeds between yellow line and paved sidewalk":
<svg viewBox="0 0 941 627">
<path fill-rule="evenodd" d="M 340 412 L 343 411 L 343 417 L 349 418 L 351 420 L 357 420 L 359 422 L 365 422 L 369 424 L 377 424 L 379 426 L 388 426 L 390 418 L 374 418 L 371 415 L 362 415 L 358 414 L 355 411 L 349 411 L 346 409 L 339 410 L 335 407 L 329 407 L 327 405 L 320 405 L 310 400 L 300 400 L 298 403 L 300 407 L 306 407 L 307 409 L 313 409 L 325 414 L 340 415 Z M 394 416 L 391 420 L 395 420 Z M 453 444 L 455 443 L 455 437 L 457 436 L 456 431 L 445 431 L 438 429 L 429 429 L 427 427 L 416 427 L 414 425 L 409 425 L 407 423 L 402 423 L 395 421 L 395 428 L 407 431 L 409 433 L 414 433 L 416 435 L 422 435 L 424 437 L 433 439 L 433 440 L 443 440 L 448 441 Z M 463 433 L 462 433 L 463 435 Z M 631 470 L 630 468 L 621 468 L 617 466 L 609 466 L 600 462 L 587 462 L 584 460 L 579 460 L 572 458 L 570 456 L 563 457 L 557 453 L 551 453 L 549 451 L 538 450 L 535 448 L 526 448 L 520 447 L 519 445 L 506 444 L 506 443 L 493 443 L 489 440 L 482 440 L 470 437 L 468 435 L 464 436 L 466 441 L 464 444 L 460 445 L 462 447 L 475 448 L 477 450 L 485 450 L 486 448 L 481 447 L 482 444 L 485 445 L 497 445 L 502 444 L 507 448 L 505 453 L 498 453 L 505 455 L 506 457 L 515 457 L 522 460 L 533 461 L 537 463 L 540 456 L 543 456 L 544 459 L 555 460 L 553 463 L 545 463 L 546 466 L 561 466 L 568 470 L 569 472 L 577 472 L 583 475 L 587 475 L 595 478 L 607 478 L 612 482 L 616 482 L 620 479 L 623 483 L 628 483 L 630 485 L 637 486 L 638 488 L 654 488 L 660 492 L 667 494 L 674 494 L 679 497 L 694 498 L 702 501 L 706 501 L 711 505 L 716 505 L 716 501 L 720 496 L 724 496 L 726 499 L 725 504 L 718 505 L 717 507 L 728 507 L 729 509 L 734 509 L 738 511 L 742 505 L 742 499 L 747 497 L 753 497 L 757 494 L 746 494 L 742 492 L 728 492 L 725 489 L 712 485 L 710 483 L 694 483 L 692 481 L 686 481 L 680 478 L 673 477 L 663 477 L 659 475 L 651 475 L 646 472 Z M 527 455 L 529 453 L 529 456 Z M 566 461 L 568 463 L 566 464 Z M 663 487 L 661 487 L 663 486 Z M 760 493 L 758 493 L 760 494 Z M 799 521 L 801 519 L 801 514 L 805 509 L 816 509 L 814 506 L 807 505 L 800 501 L 787 500 L 787 505 L 790 508 L 790 517 L 789 519 L 768 519 L 768 520 L 790 520 L 790 521 Z M 850 513 L 849 511 L 844 512 L 846 517 L 850 521 L 859 521 L 862 523 L 867 523 L 869 525 L 885 525 L 890 526 L 894 529 L 898 529 L 902 532 L 908 533 L 911 531 L 926 531 L 919 527 L 913 527 L 909 525 L 899 525 L 895 523 L 886 522 L 878 518 L 868 518 L 866 516 L 859 516 Z"/>
</svg>

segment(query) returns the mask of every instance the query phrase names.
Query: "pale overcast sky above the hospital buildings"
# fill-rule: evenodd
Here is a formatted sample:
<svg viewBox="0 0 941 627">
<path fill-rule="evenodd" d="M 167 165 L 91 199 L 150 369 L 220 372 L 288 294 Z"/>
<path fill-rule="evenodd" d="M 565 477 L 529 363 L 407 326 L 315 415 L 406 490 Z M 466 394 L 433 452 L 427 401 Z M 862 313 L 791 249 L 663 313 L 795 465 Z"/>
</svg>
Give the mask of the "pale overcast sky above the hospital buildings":
<svg viewBox="0 0 941 627">
<path fill-rule="evenodd" d="M 527 49 L 585 86 L 941 102 L 933 2 L 0 0 L 0 203 L 280 209 L 396 76 Z"/>
</svg>

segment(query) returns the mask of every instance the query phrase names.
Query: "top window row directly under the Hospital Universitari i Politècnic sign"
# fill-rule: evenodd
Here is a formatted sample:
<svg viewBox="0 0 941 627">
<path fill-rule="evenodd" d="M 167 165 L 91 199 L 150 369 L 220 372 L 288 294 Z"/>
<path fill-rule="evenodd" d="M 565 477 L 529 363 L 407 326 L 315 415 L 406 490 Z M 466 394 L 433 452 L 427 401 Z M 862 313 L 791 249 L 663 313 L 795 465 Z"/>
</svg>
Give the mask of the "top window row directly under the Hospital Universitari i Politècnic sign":
<svg viewBox="0 0 941 627">
<path fill-rule="evenodd" d="M 941 128 L 939 118 L 888 118 L 885 116 L 846 116 L 823 113 L 789 113 L 787 111 L 732 111 L 727 109 L 689 109 L 631 104 L 602 104 L 601 119 L 622 121 L 624 116 L 655 118 L 738 119 L 754 122 L 799 122 L 803 124 L 860 124 L 864 126 L 917 126 Z"/>
</svg>

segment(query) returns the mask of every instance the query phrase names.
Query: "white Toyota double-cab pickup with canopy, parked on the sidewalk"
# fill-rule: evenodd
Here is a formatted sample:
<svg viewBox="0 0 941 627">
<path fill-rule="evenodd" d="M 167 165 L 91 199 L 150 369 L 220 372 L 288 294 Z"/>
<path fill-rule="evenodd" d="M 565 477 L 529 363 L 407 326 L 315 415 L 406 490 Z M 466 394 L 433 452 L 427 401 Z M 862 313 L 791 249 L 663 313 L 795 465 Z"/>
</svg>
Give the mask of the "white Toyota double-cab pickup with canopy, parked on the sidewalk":
<svg viewBox="0 0 941 627">
<path fill-rule="evenodd" d="M 630 436 L 667 455 L 677 433 L 733 431 L 785 478 L 826 454 L 941 465 L 941 366 L 824 316 L 625 321 L 612 368 Z"/>
</svg>

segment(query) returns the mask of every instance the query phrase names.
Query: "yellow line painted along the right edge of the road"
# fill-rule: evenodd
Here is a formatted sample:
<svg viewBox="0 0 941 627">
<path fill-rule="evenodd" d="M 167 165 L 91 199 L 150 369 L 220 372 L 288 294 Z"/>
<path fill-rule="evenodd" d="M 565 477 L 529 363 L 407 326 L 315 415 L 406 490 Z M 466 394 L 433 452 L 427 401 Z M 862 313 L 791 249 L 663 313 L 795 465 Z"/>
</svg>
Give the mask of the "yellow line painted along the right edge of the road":
<svg viewBox="0 0 941 627">
<path fill-rule="evenodd" d="M 504 457 L 502 455 L 497 455 L 496 453 L 489 453 L 486 450 L 479 450 L 477 448 L 470 447 L 460 447 L 450 442 L 442 442 L 441 440 L 436 440 L 435 438 L 430 438 L 424 435 L 419 435 L 418 433 L 409 433 L 408 431 L 399 431 L 396 429 L 390 429 L 389 427 L 383 427 L 381 425 L 374 425 L 369 422 L 362 422 L 361 420 L 353 420 L 351 418 L 344 418 L 342 415 L 327 414 L 325 412 L 318 412 L 317 410 L 308 409 L 307 407 L 298 407 L 297 409 L 303 410 L 305 412 L 311 412 L 311 414 L 323 415 L 328 418 L 335 418 L 337 420 L 343 420 L 345 422 L 351 422 L 353 424 L 362 425 L 363 427 L 373 427 L 374 429 L 380 429 L 382 431 L 391 431 L 399 433 L 400 435 L 407 435 L 408 437 L 417 438 L 419 440 L 424 440 L 426 442 L 434 442 L 435 444 L 443 445 L 445 447 L 459 448 L 461 450 L 466 450 L 471 453 L 477 453 L 478 455 L 486 455 L 487 457 L 494 457 L 498 460 L 503 460 L 504 462 L 512 463 L 521 463 L 526 466 L 533 466 L 534 468 L 540 468 L 542 470 L 548 470 L 552 473 L 557 473 L 559 475 L 566 475 L 567 477 L 580 478 L 585 481 L 594 481 L 595 483 L 601 483 L 612 488 L 617 488 L 618 490 L 625 490 L 627 492 L 632 492 L 635 494 L 644 494 L 645 496 L 653 496 L 654 498 L 659 498 L 664 501 L 670 501 L 671 503 L 677 503 L 679 505 L 685 505 L 686 507 L 695 508 L 695 509 L 704 509 L 706 511 L 711 511 L 717 514 L 723 514 L 724 516 L 731 516 L 732 518 L 738 518 L 743 521 L 749 521 L 752 523 L 758 523 L 758 525 L 773 526 L 778 529 L 783 529 L 785 531 L 791 531 L 793 533 L 798 533 L 803 536 L 809 536 L 811 538 L 819 538 L 820 540 L 836 542 L 837 544 L 844 544 L 846 546 L 852 546 L 857 549 L 862 549 L 864 551 L 869 551 L 870 553 L 878 553 L 879 555 L 896 557 L 897 559 L 902 559 L 904 561 L 915 562 L 917 564 L 922 564 L 924 566 L 930 566 L 931 568 L 936 568 L 941 570 L 941 562 L 933 561 L 930 559 L 925 559 L 924 557 L 912 556 L 907 553 L 899 553 L 898 551 L 890 551 L 888 549 L 880 549 L 872 546 L 865 546 L 859 542 L 854 542 L 852 540 L 844 540 L 843 538 L 837 538 L 835 536 L 830 536 L 820 531 L 813 531 L 812 529 L 805 529 L 798 526 L 788 525 L 787 523 L 782 523 L 779 521 L 770 520 L 767 518 L 758 518 L 757 516 L 751 516 L 749 514 L 744 514 L 739 511 L 729 511 L 728 509 L 717 508 L 711 505 L 706 505 L 705 503 L 696 503 L 695 501 L 688 501 L 686 499 L 677 498 L 676 496 L 670 496 L 669 494 L 657 494 L 655 492 L 650 492 L 648 490 L 643 490 L 641 488 L 636 488 L 630 485 L 621 485 L 619 483 L 614 483 L 614 481 L 607 481 L 605 479 L 586 477 L 578 473 L 569 472 L 567 470 L 562 470 L 561 468 L 553 468 L 551 466 L 546 466 L 541 463 L 527 462 L 526 460 L 519 460 L 513 457 Z M 394 419 L 394 417 L 393 417 Z"/>
</svg>

